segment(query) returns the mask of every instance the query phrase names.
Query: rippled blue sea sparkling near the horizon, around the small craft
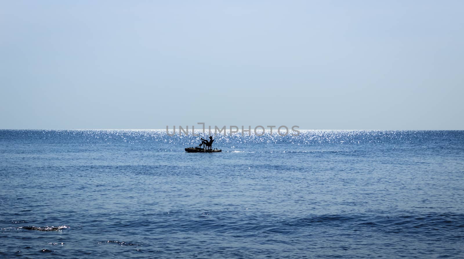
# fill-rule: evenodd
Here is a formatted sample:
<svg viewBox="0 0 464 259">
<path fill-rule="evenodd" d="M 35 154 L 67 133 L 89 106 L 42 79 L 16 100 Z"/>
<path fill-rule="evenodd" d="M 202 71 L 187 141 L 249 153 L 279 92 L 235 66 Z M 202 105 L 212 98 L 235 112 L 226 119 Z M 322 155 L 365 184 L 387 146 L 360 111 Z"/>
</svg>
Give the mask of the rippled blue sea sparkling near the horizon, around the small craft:
<svg viewBox="0 0 464 259">
<path fill-rule="evenodd" d="M 464 257 L 463 131 L 198 139 L 0 130 L 0 258 Z"/>
</svg>

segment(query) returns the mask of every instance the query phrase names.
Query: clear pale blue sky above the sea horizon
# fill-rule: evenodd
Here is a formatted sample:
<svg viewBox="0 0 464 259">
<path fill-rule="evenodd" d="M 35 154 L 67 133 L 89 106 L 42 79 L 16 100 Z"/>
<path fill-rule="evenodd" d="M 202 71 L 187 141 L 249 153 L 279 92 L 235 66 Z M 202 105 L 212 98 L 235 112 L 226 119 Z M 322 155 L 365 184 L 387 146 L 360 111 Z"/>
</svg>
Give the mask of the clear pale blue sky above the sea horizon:
<svg viewBox="0 0 464 259">
<path fill-rule="evenodd" d="M 464 130 L 462 10 L 0 0 L 0 129 Z"/>
</svg>

